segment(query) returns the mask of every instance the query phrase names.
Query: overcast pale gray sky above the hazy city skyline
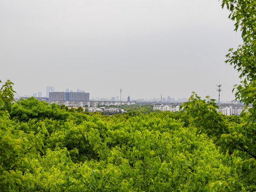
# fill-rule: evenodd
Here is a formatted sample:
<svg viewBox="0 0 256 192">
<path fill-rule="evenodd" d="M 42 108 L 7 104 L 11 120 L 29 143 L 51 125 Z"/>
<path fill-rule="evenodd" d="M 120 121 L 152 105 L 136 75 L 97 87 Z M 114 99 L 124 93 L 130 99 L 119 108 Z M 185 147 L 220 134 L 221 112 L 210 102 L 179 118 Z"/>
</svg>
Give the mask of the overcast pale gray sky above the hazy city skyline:
<svg viewBox="0 0 256 192">
<path fill-rule="evenodd" d="M 90 97 L 232 100 L 225 64 L 242 43 L 218 0 L 1 0 L 0 79 L 20 95 L 46 86 Z"/>
</svg>

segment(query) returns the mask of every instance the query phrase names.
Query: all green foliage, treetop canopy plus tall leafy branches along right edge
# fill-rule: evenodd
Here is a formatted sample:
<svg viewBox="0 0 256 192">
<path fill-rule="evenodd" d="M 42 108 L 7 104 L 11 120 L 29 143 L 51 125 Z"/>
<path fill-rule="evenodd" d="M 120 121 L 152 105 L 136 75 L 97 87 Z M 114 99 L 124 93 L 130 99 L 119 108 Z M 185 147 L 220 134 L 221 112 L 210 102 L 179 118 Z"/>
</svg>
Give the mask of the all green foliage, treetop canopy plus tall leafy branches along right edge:
<svg viewBox="0 0 256 192">
<path fill-rule="evenodd" d="M 244 44 L 227 55 L 243 79 L 237 99 L 252 104 L 242 118 L 218 114 L 213 100 L 196 94 L 180 119 L 170 112 L 85 114 L 33 98 L 12 104 L 7 81 L 0 90 L 1 190 L 255 191 L 256 4 L 225 5 L 243 31 Z"/>
</svg>

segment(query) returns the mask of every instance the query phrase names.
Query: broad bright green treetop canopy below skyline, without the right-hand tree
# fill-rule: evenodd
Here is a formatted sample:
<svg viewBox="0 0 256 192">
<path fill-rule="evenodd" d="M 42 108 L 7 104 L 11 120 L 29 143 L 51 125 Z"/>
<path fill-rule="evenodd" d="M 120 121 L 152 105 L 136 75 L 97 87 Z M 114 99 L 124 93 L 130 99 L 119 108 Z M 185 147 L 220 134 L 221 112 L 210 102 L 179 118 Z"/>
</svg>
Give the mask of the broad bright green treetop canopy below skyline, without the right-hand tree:
<svg viewBox="0 0 256 192">
<path fill-rule="evenodd" d="M 237 158 L 221 154 L 205 135 L 196 135 L 173 115 L 166 111 L 109 117 L 67 112 L 34 98 L 13 103 L 0 117 L 4 154 L 0 187 L 3 191 L 243 190 L 243 178 L 229 166 Z"/>
</svg>

